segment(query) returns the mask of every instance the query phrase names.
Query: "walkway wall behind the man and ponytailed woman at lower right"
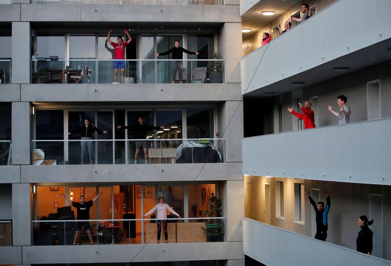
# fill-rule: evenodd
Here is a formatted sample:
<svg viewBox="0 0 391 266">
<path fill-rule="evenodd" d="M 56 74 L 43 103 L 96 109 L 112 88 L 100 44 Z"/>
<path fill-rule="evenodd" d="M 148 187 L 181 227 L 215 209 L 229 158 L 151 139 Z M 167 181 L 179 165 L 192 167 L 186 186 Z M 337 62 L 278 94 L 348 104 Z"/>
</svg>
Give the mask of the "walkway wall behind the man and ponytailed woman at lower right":
<svg viewBox="0 0 391 266">
<path fill-rule="evenodd" d="M 276 181 L 283 182 L 284 187 L 284 216 L 276 217 Z M 307 179 L 278 178 L 278 177 L 244 177 L 245 217 L 265 222 L 264 218 L 264 184 L 270 184 L 271 225 L 314 237 L 315 228 L 313 208 L 305 199 L 305 222 L 294 222 L 294 183 L 304 183 L 305 191 L 311 194 L 311 189 L 319 189 L 320 201 L 326 202 L 324 193 L 330 195 L 331 207 L 328 215 L 328 236 L 326 242 L 341 245 L 350 249 L 356 248 L 355 240 L 359 228 L 357 217 L 367 215 L 370 218 L 369 194 L 383 195 L 383 221 L 375 221 L 383 226 L 383 258 L 391 260 L 390 236 L 391 228 L 386 222 L 391 214 L 391 187 L 381 185 L 363 185 L 343 182 L 329 182 Z M 379 232 L 374 232 L 374 242 Z M 376 243 L 375 243 L 376 244 Z"/>
</svg>

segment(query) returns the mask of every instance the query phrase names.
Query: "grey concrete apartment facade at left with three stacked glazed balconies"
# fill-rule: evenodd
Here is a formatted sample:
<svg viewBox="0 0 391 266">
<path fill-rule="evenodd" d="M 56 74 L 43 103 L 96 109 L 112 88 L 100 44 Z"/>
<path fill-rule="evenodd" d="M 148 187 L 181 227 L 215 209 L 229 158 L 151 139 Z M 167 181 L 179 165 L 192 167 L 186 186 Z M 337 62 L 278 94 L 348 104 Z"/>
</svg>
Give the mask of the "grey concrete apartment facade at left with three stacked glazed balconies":
<svg viewBox="0 0 391 266">
<path fill-rule="evenodd" d="M 244 264 L 239 1 L 21 0 L 0 5 L 0 24 L 0 264 Z M 109 29 L 132 39 L 120 63 Z M 175 41 L 199 52 L 184 53 L 181 83 L 172 55 L 156 55 Z M 139 117 L 157 128 L 143 139 Z M 98 129 L 86 143 L 85 118 Z M 73 245 L 62 195 L 100 193 L 93 245 Z M 213 196 L 220 217 L 205 215 Z M 142 218 L 160 197 L 181 216 L 168 244 Z"/>
</svg>

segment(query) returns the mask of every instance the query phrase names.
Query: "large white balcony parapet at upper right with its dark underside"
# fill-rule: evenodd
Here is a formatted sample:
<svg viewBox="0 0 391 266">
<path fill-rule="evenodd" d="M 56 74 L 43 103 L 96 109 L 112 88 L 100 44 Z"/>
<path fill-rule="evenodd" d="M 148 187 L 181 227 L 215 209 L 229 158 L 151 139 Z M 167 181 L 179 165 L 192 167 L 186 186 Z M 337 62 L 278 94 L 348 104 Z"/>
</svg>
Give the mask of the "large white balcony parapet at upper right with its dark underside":
<svg viewBox="0 0 391 266">
<path fill-rule="evenodd" d="M 334 67 L 354 71 L 389 60 L 390 13 L 390 0 L 337 0 L 243 57 L 242 94 L 280 94 L 297 89 L 292 82 L 307 86 L 341 75 Z"/>
</svg>

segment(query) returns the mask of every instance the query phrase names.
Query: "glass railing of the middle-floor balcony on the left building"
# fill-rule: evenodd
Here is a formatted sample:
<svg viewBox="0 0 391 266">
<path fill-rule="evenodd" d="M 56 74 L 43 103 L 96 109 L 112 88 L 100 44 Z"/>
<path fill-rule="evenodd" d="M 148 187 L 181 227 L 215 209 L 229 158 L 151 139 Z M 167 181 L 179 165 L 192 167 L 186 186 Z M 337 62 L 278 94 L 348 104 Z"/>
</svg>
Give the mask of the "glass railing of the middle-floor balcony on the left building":
<svg viewBox="0 0 391 266">
<path fill-rule="evenodd" d="M 32 140 L 31 151 L 33 165 L 220 163 L 225 139 Z"/>
</svg>

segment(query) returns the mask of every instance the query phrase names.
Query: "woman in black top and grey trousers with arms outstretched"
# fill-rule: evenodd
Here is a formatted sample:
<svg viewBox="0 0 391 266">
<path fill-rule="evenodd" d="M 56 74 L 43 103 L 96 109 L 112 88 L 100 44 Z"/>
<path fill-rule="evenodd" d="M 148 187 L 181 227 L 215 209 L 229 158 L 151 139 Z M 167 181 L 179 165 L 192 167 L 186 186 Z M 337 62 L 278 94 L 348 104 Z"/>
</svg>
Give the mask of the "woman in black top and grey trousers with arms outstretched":
<svg viewBox="0 0 391 266">
<path fill-rule="evenodd" d="M 68 135 L 73 135 L 75 133 L 80 133 L 82 135 L 82 141 L 80 141 L 80 147 L 82 149 L 80 157 L 82 159 L 82 164 L 84 164 L 84 158 L 87 152 L 88 152 L 89 164 L 92 164 L 92 160 L 93 160 L 92 141 L 90 141 L 89 139 L 92 139 L 93 131 L 107 134 L 107 131 L 97 129 L 94 127 L 94 125 L 90 124 L 88 118 L 84 119 L 84 125 L 80 125 L 79 128 L 72 130 L 71 132 L 68 133 Z M 87 140 L 87 141 L 83 141 L 83 140 Z"/>
</svg>

